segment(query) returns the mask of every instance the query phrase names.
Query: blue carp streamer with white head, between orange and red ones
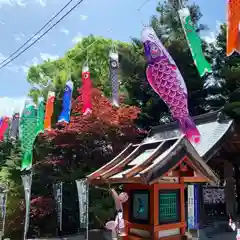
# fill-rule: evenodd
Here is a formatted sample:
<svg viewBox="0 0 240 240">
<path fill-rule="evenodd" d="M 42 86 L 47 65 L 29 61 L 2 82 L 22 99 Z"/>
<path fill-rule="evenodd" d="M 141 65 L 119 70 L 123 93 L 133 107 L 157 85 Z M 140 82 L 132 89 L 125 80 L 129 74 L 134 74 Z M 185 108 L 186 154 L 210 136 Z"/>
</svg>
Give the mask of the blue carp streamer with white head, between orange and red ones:
<svg viewBox="0 0 240 240">
<path fill-rule="evenodd" d="M 73 93 L 73 82 L 67 81 L 64 88 L 63 100 L 62 100 L 62 111 L 58 117 L 58 122 L 70 122 L 71 114 L 71 102 L 72 102 L 72 93 Z"/>
</svg>

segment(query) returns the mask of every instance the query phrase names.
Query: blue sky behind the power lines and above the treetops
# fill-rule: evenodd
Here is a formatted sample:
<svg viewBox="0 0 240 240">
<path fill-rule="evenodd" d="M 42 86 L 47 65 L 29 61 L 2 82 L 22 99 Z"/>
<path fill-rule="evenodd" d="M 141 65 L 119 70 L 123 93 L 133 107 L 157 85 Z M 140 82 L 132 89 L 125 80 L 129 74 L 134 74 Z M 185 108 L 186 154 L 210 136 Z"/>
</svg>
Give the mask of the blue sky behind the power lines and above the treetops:
<svg viewBox="0 0 240 240">
<path fill-rule="evenodd" d="M 0 0 L 0 61 L 41 28 L 67 1 Z M 157 0 L 149 0 L 138 12 L 137 9 L 144 2 L 144 0 L 85 0 L 34 47 L 0 70 L 0 108 L 3 97 L 22 98 L 27 95 L 29 85 L 26 72 L 30 65 L 41 63 L 47 58 L 63 56 L 81 37 L 94 34 L 122 41 L 129 41 L 130 36 L 140 37 L 141 22 L 147 23 L 155 14 Z M 226 19 L 226 1 L 194 2 L 201 7 L 204 15 L 201 22 L 210 27 L 210 31 L 205 35 L 211 39 L 218 23 Z"/>
</svg>

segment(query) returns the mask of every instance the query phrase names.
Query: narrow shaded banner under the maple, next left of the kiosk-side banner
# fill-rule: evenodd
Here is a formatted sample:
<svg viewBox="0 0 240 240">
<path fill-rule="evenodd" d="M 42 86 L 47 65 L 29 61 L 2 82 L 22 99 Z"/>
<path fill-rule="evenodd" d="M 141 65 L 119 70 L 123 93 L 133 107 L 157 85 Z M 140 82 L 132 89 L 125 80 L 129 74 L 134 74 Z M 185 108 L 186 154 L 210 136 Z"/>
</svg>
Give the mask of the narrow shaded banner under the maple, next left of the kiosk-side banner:
<svg viewBox="0 0 240 240">
<path fill-rule="evenodd" d="M 62 185 L 62 182 L 53 184 L 54 198 L 56 201 L 57 221 L 60 231 L 62 231 Z"/>
</svg>

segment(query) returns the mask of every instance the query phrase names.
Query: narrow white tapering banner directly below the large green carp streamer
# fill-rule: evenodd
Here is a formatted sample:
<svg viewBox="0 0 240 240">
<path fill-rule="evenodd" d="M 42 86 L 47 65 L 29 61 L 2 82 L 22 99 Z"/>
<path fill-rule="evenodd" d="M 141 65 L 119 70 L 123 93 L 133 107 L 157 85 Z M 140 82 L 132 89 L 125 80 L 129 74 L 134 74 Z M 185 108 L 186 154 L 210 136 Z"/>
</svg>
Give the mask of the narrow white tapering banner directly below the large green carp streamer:
<svg viewBox="0 0 240 240">
<path fill-rule="evenodd" d="M 28 227 L 29 227 L 29 213 L 30 213 L 30 200 L 31 200 L 31 186 L 32 186 L 32 173 L 27 175 L 22 175 L 22 183 L 25 193 L 25 205 L 26 205 L 26 215 L 25 215 L 25 225 L 23 239 L 27 237 Z"/>
</svg>

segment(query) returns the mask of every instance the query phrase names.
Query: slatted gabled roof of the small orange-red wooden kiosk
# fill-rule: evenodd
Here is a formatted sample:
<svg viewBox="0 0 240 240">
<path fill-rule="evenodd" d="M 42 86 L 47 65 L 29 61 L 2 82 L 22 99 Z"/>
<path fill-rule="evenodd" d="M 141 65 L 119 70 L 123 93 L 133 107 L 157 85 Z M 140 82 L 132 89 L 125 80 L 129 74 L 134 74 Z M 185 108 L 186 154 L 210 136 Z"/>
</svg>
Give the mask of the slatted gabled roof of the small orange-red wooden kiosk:
<svg viewBox="0 0 240 240">
<path fill-rule="evenodd" d="M 166 174 L 183 161 L 197 173 L 191 181 L 195 179 L 196 182 L 218 182 L 217 175 L 202 160 L 185 136 L 139 145 L 130 144 L 112 161 L 87 176 L 87 179 L 93 184 L 152 184 L 158 181 L 174 181 L 176 177 Z"/>
</svg>

